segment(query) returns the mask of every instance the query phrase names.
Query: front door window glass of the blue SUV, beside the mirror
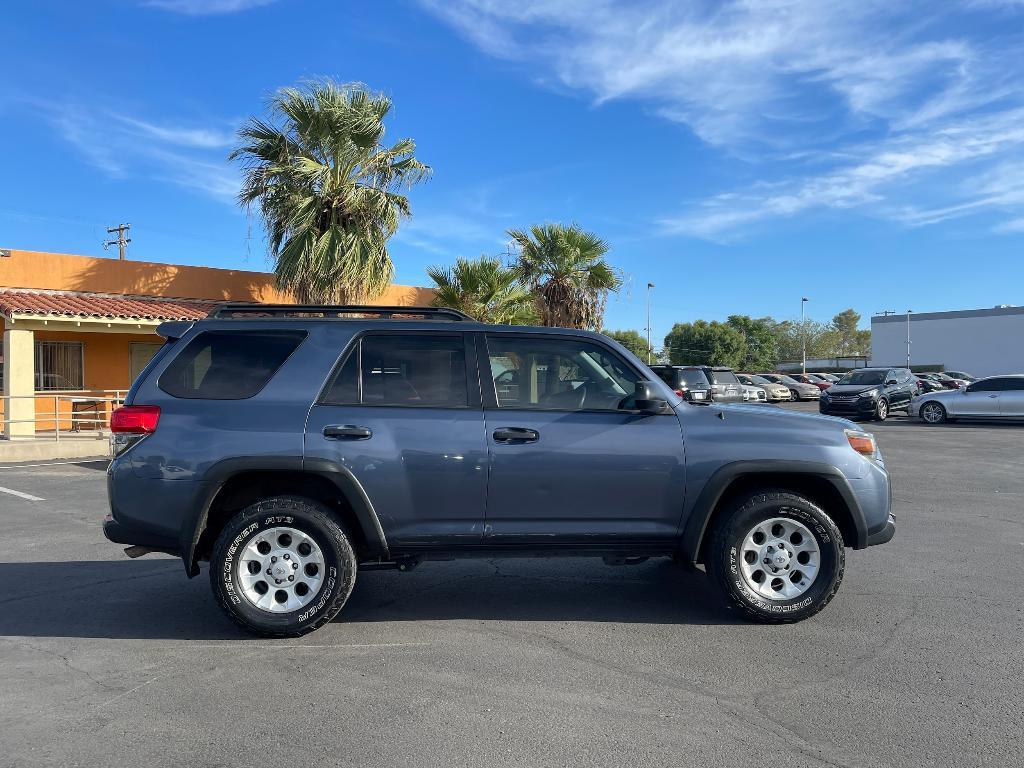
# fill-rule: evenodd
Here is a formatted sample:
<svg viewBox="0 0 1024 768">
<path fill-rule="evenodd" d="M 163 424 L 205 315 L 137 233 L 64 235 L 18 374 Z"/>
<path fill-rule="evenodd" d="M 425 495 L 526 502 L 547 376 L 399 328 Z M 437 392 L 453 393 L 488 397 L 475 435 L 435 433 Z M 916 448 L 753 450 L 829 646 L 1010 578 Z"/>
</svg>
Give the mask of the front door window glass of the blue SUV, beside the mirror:
<svg viewBox="0 0 1024 768">
<path fill-rule="evenodd" d="M 586 339 L 487 336 L 499 408 L 614 411 L 641 377 Z"/>
</svg>

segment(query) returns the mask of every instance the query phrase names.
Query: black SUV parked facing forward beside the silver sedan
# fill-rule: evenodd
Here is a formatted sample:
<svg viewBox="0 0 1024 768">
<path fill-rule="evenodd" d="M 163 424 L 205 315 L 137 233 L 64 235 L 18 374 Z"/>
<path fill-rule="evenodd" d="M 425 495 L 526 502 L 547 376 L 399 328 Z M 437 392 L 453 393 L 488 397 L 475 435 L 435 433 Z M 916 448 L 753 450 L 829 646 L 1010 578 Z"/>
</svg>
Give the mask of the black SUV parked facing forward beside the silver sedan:
<svg viewBox="0 0 1024 768">
<path fill-rule="evenodd" d="M 906 368 L 861 368 L 821 392 L 818 411 L 829 416 L 885 421 L 893 411 L 909 413 L 918 379 Z"/>
</svg>

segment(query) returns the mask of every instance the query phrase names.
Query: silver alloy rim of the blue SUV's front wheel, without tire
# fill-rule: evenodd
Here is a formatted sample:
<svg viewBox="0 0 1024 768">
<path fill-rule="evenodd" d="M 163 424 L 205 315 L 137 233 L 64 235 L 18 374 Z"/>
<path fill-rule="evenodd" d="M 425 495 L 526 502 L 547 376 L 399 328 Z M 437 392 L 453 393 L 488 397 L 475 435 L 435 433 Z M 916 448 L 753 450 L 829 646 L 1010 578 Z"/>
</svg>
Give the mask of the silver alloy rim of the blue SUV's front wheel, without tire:
<svg viewBox="0 0 1024 768">
<path fill-rule="evenodd" d="M 766 600 L 800 597 L 821 567 L 818 540 L 792 517 L 759 522 L 743 537 L 739 570 L 746 586 Z"/>
</svg>

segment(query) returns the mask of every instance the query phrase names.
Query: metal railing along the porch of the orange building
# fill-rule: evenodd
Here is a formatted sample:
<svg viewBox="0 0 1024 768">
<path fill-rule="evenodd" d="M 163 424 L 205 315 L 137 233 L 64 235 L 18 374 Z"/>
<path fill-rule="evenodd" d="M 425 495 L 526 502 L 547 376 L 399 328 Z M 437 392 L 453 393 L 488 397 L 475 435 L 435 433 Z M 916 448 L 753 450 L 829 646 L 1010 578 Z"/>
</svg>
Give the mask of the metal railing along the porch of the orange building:
<svg viewBox="0 0 1024 768">
<path fill-rule="evenodd" d="M 61 437 L 84 436 L 83 431 L 91 432 L 90 436 L 103 437 L 104 430 L 111 425 L 111 414 L 124 404 L 126 393 L 125 389 L 89 389 L 2 395 L 0 402 L 3 403 L 3 418 L 0 419 L 0 424 L 3 425 L 3 437 L 11 437 L 8 427 L 10 424 L 33 425 L 31 435 L 15 435 L 22 438 L 52 438 L 59 442 Z M 12 400 L 32 400 L 33 417 L 11 419 Z M 52 410 L 40 411 L 40 407 Z"/>
</svg>

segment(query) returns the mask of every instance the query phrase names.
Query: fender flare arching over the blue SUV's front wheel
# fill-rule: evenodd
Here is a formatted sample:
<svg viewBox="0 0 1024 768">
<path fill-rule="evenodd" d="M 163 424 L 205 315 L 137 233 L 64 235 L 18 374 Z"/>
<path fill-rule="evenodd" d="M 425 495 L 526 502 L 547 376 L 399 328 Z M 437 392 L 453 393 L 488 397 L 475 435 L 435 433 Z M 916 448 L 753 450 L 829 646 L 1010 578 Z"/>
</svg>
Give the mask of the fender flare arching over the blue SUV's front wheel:
<svg viewBox="0 0 1024 768">
<path fill-rule="evenodd" d="M 708 523 L 711 521 L 712 514 L 722 500 L 726 488 L 742 477 L 766 474 L 814 477 L 830 483 L 840 498 L 843 499 L 853 520 L 856 540 L 850 543 L 851 546 L 854 549 L 863 549 L 867 546 L 867 524 L 864 521 L 864 513 L 853 488 L 850 487 L 850 481 L 838 467 L 820 462 L 797 460 L 736 461 L 715 470 L 688 510 L 680 541 L 680 549 L 685 562 L 695 563 L 697 561 L 700 546 L 708 531 Z"/>
</svg>

